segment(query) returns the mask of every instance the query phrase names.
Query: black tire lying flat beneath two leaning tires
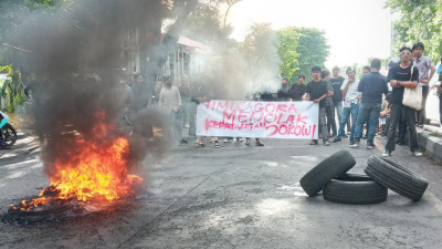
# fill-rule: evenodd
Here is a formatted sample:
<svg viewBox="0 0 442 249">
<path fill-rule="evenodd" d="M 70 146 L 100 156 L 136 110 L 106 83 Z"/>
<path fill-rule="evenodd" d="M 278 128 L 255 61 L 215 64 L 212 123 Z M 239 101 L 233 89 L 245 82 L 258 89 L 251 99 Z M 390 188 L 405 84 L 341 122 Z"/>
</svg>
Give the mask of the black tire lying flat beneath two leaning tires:
<svg viewBox="0 0 442 249">
<path fill-rule="evenodd" d="M 367 175 L 345 174 L 323 187 L 324 199 L 338 204 L 379 204 L 388 189 Z"/>
</svg>

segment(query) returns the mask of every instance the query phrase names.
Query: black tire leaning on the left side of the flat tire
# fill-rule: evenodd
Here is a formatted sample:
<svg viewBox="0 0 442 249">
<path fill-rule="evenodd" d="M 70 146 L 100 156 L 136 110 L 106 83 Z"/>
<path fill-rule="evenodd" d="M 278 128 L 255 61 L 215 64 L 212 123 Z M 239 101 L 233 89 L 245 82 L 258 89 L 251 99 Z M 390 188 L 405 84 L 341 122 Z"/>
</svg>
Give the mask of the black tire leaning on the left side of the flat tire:
<svg viewBox="0 0 442 249">
<path fill-rule="evenodd" d="M 312 168 L 301 178 L 299 185 L 308 196 L 314 196 L 330 179 L 348 172 L 355 165 L 356 160 L 351 154 L 343 149 Z"/>
</svg>

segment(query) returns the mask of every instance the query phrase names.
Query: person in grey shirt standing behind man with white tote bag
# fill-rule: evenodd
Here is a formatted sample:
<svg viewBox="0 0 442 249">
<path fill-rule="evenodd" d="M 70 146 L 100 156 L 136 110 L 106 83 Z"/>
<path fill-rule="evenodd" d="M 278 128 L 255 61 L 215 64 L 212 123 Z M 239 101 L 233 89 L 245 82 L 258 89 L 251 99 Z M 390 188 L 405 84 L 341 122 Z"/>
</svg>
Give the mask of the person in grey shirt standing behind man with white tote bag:
<svg viewBox="0 0 442 249">
<path fill-rule="evenodd" d="M 418 127 L 423 128 L 425 124 L 427 113 L 427 97 L 429 95 L 429 82 L 435 72 L 434 63 L 430 58 L 423 55 L 424 46 L 422 42 L 418 42 L 413 45 L 412 52 L 414 53 L 414 66 L 419 70 L 419 83 L 418 85 L 422 87 L 422 108 L 418 111 Z"/>
</svg>

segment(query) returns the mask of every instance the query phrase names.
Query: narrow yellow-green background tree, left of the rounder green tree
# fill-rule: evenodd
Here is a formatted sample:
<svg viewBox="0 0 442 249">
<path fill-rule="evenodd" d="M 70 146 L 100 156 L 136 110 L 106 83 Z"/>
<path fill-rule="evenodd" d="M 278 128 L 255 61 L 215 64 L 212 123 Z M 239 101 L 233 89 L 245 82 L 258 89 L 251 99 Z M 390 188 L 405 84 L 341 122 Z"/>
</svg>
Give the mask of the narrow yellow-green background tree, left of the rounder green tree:
<svg viewBox="0 0 442 249">
<path fill-rule="evenodd" d="M 281 75 L 292 79 L 293 74 L 299 70 L 299 53 L 296 50 L 301 34 L 295 28 L 285 28 L 277 31 L 276 37 L 278 41 L 277 53 L 281 59 Z"/>
</svg>

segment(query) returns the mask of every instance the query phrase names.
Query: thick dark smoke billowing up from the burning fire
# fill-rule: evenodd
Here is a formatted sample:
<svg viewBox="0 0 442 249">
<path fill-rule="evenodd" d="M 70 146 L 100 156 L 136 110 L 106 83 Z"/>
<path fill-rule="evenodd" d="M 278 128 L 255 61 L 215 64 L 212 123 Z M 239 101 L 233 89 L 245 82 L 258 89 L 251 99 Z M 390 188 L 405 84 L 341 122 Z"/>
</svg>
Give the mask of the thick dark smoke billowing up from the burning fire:
<svg viewBox="0 0 442 249">
<path fill-rule="evenodd" d="M 29 84 L 34 129 L 45 142 L 42 154 L 49 175 L 55 158 L 70 160 L 78 138 L 94 137 L 102 111 L 104 123 L 116 125 L 104 139 L 129 137 L 133 170 L 139 173 L 149 153 L 161 156 L 165 152 L 165 143 L 148 143 L 144 136 L 147 126 L 166 125 L 160 112 L 145 110 L 133 116 L 131 135 L 122 122 L 127 96 L 120 85 L 127 75 L 123 38 L 130 29 L 146 29 L 148 22 L 160 25 L 158 6 L 158 0 L 76 0 L 57 6 L 56 11 L 24 17 L 9 38 L 8 44 L 21 49 L 17 53 L 22 69 L 35 75 Z M 146 82 L 146 95 L 150 94 L 149 84 Z"/>
</svg>

